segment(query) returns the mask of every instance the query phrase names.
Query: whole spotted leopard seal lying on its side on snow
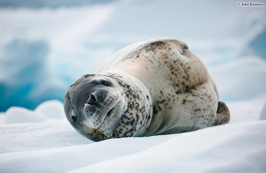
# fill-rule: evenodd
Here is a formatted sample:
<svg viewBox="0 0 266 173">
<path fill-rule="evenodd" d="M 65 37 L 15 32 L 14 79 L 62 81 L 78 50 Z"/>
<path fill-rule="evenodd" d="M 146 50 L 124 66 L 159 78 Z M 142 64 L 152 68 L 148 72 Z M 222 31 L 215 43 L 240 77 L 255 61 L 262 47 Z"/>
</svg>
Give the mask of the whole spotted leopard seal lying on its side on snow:
<svg viewBox="0 0 266 173">
<path fill-rule="evenodd" d="M 203 60 L 168 37 L 127 46 L 77 79 L 64 111 L 92 141 L 183 133 L 230 120 Z"/>
</svg>

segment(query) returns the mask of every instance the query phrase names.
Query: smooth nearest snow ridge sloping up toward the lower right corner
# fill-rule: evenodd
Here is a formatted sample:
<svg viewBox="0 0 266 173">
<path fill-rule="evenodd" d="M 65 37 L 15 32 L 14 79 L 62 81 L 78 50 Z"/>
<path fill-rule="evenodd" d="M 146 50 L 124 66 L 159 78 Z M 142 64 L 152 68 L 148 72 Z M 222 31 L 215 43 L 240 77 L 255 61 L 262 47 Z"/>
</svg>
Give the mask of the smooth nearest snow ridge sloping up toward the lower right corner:
<svg viewBox="0 0 266 173">
<path fill-rule="evenodd" d="M 266 121 L 183 133 L 148 150 L 75 172 L 265 172 Z M 219 134 L 219 135 L 217 135 Z M 131 139 L 128 139 L 131 140 Z"/>
</svg>

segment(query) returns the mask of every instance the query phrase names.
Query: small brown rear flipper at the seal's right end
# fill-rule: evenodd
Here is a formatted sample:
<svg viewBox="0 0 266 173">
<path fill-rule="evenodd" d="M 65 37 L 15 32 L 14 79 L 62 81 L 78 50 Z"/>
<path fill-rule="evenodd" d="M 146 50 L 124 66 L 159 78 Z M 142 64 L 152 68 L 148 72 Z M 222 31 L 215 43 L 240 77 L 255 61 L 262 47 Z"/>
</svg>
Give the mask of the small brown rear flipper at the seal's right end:
<svg viewBox="0 0 266 173">
<path fill-rule="evenodd" d="M 230 112 L 224 102 L 218 103 L 216 116 L 217 116 L 217 121 L 215 122 L 214 125 L 226 124 L 229 122 Z"/>
</svg>

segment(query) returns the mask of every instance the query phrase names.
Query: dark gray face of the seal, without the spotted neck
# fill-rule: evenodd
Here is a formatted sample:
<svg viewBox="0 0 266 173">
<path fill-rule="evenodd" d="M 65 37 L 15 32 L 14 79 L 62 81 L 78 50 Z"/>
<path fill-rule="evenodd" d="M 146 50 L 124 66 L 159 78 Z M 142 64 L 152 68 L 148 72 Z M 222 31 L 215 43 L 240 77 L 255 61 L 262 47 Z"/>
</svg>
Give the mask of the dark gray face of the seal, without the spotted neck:
<svg viewBox="0 0 266 173">
<path fill-rule="evenodd" d="M 103 132 L 118 126 L 127 108 L 123 89 L 106 76 L 83 76 L 67 89 L 67 120 L 81 135 L 93 141 L 107 139 Z"/>
</svg>

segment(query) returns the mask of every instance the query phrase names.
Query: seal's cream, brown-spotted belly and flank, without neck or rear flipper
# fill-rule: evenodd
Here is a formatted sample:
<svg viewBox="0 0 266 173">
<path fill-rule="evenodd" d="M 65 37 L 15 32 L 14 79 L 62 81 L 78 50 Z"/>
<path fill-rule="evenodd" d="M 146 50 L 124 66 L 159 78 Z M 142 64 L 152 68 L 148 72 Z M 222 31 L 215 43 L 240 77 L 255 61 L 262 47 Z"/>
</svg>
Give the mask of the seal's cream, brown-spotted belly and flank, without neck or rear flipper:
<svg viewBox="0 0 266 173">
<path fill-rule="evenodd" d="M 180 51 L 175 43 L 163 45 L 166 48 L 162 50 L 140 48 L 143 51 L 125 58 L 122 65 L 116 67 L 150 86 L 152 115 L 140 136 L 207 127 L 210 117 L 205 116 L 214 116 L 217 110 L 216 86 L 204 62 L 187 49 Z"/>
</svg>

